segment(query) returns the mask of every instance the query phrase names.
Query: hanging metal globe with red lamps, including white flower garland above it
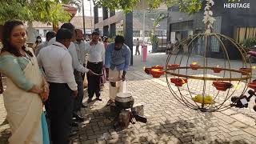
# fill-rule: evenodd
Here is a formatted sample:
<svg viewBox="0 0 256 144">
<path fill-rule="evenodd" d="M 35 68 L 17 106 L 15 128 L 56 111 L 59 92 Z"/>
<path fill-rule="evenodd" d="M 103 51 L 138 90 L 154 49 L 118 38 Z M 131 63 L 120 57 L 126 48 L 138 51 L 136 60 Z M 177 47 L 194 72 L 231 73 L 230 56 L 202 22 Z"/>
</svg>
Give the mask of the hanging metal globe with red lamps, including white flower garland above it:
<svg viewBox="0 0 256 144">
<path fill-rule="evenodd" d="M 250 82 L 250 60 L 247 62 L 246 50 L 234 39 L 211 33 L 215 21 L 211 6 L 214 6 L 214 1 L 207 0 L 202 20 L 206 25 L 204 34 L 194 34 L 175 43 L 166 60 L 166 69 L 153 66 L 144 70 L 154 78 L 166 74 L 170 93 L 190 109 L 214 112 L 232 106 L 247 107 L 250 98 L 256 96 L 256 80 Z M 210 58 L 214 51 L 222 56 Z M 237 54 L 237 60 L 231 60 L 230 51 Z M 245 95 L 248 87 L 253 89 L 248 91 L 249 97 Z"/>
</svg>

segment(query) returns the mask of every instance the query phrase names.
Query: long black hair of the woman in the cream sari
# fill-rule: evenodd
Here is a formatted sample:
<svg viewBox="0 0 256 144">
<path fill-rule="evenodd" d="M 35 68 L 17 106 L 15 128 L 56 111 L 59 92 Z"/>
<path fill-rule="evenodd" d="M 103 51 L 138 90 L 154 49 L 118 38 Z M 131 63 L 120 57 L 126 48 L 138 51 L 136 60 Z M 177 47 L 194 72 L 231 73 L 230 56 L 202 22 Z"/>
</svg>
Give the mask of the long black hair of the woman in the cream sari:
<svg viewBox="0 0 256 144">
<path fill-rule="evenodd" d="M 11 31 L 14 29 L 15 26 L 20 25 L 24 26 L 23 22 L 19 20 L 10 20 L 5 22 L 2 30 L 2 52 L 8 51 L 10 54 L 14 54 L 17 57 L 22 56 L 22 54 L 10 44 Z M 33 54 L 29 50 L 26 50 L 26 46 L 22 46 L 22 49 L 26 52 L 26 54 L 29 54 L 31 57 L 33 57 Z"/>
</svg>

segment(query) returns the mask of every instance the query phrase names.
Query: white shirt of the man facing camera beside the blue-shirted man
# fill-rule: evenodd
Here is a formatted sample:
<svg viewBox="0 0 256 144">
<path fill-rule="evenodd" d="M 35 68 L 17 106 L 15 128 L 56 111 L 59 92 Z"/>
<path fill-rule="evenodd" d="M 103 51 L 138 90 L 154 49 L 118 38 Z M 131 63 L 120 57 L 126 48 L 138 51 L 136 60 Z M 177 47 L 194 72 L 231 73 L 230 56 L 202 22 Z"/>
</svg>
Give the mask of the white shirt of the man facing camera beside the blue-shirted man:
<svg viewBox="0 0 256 144">
<path fill-rule="evenodd" d="M 102 42 L 90 46 L 90 42 L 86 42 L 87 60 L 89 62 L 103 62 L 105 64 L 105 47 Z"/>
</svg>

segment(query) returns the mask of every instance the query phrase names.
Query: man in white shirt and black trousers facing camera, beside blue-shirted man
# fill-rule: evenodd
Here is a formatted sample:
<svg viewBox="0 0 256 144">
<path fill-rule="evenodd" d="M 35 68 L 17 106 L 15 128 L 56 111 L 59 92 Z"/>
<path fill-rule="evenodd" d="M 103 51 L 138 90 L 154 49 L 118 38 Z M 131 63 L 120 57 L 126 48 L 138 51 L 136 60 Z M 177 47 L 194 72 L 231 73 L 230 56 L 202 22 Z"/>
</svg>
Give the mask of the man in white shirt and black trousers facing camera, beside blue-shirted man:
<svg viewBox="0 0 256 144">
<path fill-rule="evenodd" d="M 99 75 L 87 74 L 88 80 L 88 101 L 91 102 L 94 94 L 98 101 L 102 101 L 100 97 L 100 76 L 102 74 L 102 66 L 105 61 L 105 48 L 102 42 L 98 42 L 99 33 L 93 32 L 92 40 L 86 42 L 86 53 L 88 53 L 87 68 Z"/>
</svg>

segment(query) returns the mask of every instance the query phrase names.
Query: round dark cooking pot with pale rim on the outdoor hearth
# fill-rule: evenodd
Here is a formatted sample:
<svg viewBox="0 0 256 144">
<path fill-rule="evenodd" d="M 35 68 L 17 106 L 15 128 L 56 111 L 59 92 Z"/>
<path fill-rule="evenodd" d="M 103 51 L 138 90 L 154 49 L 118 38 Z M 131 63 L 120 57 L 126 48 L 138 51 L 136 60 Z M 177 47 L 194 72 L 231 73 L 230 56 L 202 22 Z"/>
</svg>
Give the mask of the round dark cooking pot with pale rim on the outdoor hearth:
<svg viewBox="0 0 256 144">
<path fill-rule="evenodd" d="M 115 106 L 121 109 L 130 109 L 134 106 L 134 98 L 131 93 L 118 93 L 114 98 Z"/>
</svg>

